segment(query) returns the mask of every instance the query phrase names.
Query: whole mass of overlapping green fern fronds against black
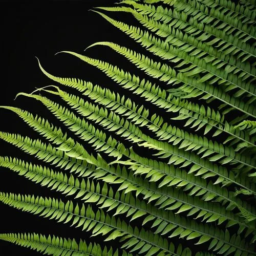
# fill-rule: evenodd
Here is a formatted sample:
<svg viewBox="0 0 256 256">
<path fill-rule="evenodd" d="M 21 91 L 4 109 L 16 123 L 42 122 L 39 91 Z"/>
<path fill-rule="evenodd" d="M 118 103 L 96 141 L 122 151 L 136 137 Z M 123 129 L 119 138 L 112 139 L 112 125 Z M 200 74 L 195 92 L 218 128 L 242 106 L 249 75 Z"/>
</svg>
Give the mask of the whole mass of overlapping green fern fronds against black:
<svg viewBox="0 0 256 256">
<path fill-rule="evenodd" d="M 144 76 L 111 59 L 61 54 L 95 66 L 136 97 L 50 74 L 38 60 L 54 84 L 17 96 L 45 105 L 61 127 L 1 106 L 40 138 L 0 138 L 41 165 L 8 156 L 0 165 L 65 198 L 2 191 L 0 201 L 104 241 L 37 233 L 0 239 L 53 255 L 256 255 L 255 1 L 124 0 L 93 11 L 144 50 L 102 41 L 86 52 L 111 48 Z M 112 12 L 130 13 L 140 25 Z"/>
</svg>

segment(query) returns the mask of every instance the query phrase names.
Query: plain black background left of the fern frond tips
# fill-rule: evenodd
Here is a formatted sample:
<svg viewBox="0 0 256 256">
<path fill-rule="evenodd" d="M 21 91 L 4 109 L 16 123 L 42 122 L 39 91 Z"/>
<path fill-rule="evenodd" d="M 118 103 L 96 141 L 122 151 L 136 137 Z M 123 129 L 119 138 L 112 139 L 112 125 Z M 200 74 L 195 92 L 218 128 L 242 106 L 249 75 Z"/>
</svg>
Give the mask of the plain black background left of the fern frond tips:
<svg viewBox="0 0 256 256">
<path fill-rule="evenodd" d="M 81 60 L 56 52 L 62 50 L 83 54 L 83 50 L 96 41 L 114 41 L 120 45 L 137 47 L 128 36 L 106 22 L 98 14 L 89 11 L 97 6 L 113 6 L 117 1 L 53 1 L 53 2 L 2 2 L 0 11 L 1 27 L 1 90 L 0 105 L 17 106 L 32 113 L 49 116 L 48 111 L 33 99 L 18 97 L 18 92 L 31 93 L 35 87 L 48 86 L 52 82 L 40 71 L 36 58 L 50 73 L 58 76 L 77 77 L 90 80 L 104 86 L 108 82 L 114 83 L 95 67 L 91 67 Z M 110 13 L 118 18 L 119 14 Z M 121 14 L 122 18 L 131 15 Z M 129 62 L 110 49 L 95 47 L 87 51 L 94 58 L 100 58 L 121 63 L 124 68 L 131 68 Z M 103 83 L 103 84 L 102 84 Z M 23 136 L 36 138 L 37 135 L 16 114 L 0 109 L 0 130 L 19 133 Z M 15 146 L 7 142 L 0 142 L 0 155 L 33 160 Z M 35 161 L 34 161 L 35 160 Z M 41 187 L 24 177 L 18 176 L 11 170 L 1 167 L 0 190 L 4 192 L 35 194 L 42 196 L 58 196 L 49 193 L 49 189 Z M 90 239 L 84 232 L 66 225 L 56 224 L 54 221 L 41 219 L 37 216 L 21 212 L 20 210 L 0 204 L 0 233 L 9 232 L 38 232 L 42 234 L 56 234 L 66 238 L 79 238 L 98 241 L 100 238 Z M 68 230 L 68 231 L 67 231 Z M 41 255 L 36 251 L 20 247 L 9 242 L 0 241 L 0 255 Z"/>
</svg>

